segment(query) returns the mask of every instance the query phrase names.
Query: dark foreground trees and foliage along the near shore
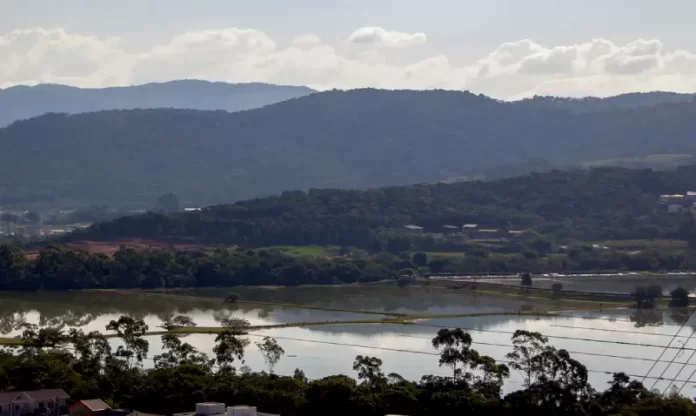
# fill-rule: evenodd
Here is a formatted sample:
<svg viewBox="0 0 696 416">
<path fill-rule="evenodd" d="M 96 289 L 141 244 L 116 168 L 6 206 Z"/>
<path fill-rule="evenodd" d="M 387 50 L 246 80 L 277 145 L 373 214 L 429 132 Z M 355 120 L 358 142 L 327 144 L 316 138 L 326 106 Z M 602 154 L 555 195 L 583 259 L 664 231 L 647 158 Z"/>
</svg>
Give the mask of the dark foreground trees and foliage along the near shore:
<svg viewBox="0 0 696 416">
<path fill-rule="evenodd" d="M 335 375 L 310 381 L 300 369 L 287 377 L 235 368 L 250 345 L 244 325 L 218 333 L 212 358 L 172 331 L 180 325 L 195 323 L 186 317 L 167 321 L 163 351 L 153 357 L 154 368 L 144 369 L 149 328 L 142 320 L 123 316 L 109 323 L 107 330 L 123 341 L 116 350 L 98 332 L 24 324 L 18 351 L 0 353 L 0 390 L 61 387 L 74 400 L 101 397 L 116 407 L 160 414 L 189 411 L 203 401 L 255 405 L 284 416 L 696 414 L 693 402 L 676 392 L 650 392 L 621 373 L 614 374 L 607 390 L 596 391 L 582 363 L 534 332 L 513 335 L 503 364 L 471 348 L 471 336 L 461 329 L 440 330 L 432 346 L 440 366 L 451 369 L 450 377 L 426 375 L 412 382 L 385 374 L 381 359 L 359 355 L 353 364 L 357 380 Z M 65 349 L 67 343 L 72 347 Z M 257 345 L 272 370 L 284 354 L 282 346 L 272 338 Z M 523 386 L 504 394 L 511 371 L 520 373 Z"/>
</svg>

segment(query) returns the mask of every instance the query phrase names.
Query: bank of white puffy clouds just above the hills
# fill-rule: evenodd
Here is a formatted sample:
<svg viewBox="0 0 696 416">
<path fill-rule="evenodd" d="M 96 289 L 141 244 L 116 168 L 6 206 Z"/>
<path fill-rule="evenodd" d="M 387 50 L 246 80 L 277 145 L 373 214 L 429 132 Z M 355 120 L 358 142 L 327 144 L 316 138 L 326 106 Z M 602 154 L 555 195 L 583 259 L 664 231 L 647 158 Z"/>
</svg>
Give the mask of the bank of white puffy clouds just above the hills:
<svg viewBox="0 0 696 416">
<path fill-rule="evenodd" d="M 121 38 L 30 28 L 0 35 L 0 87 L 105 87 L 198 78 L 342 89 L 465 89 L 503 99 L 696 91 L 696 55 L 669 50 L 656 39 L 560 46 L 523 39 L 462 66 L 446 55 L 414 59 L 427 50 L 427 40 L 424 33 L 364 27 L 336 45 L 315 34 L 282 43 L 259 30 L 232 27 L 182 33 L 133 51 Z M 387 49 L 388 55 L 380 52 Z"/>
</svg>

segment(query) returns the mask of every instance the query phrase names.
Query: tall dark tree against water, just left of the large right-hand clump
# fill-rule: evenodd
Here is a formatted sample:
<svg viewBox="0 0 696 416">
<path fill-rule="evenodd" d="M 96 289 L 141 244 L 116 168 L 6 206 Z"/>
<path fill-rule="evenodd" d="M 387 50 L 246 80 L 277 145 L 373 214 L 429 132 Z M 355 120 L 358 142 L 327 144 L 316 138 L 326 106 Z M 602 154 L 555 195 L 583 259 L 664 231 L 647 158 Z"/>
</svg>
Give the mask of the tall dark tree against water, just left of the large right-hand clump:
<svg viewBox="0 0 696 416">
<path fill-rule="evenodd" d="M 441 329 L 433 338 L 432 344 L 440 351 L 440 366 L 446 365 L 452 369 L 452 379 L 471 379 L 467 370 L 478 365 L 479 354 L 471 349 L 471 335 L 457 329 Z"/>
</svg>

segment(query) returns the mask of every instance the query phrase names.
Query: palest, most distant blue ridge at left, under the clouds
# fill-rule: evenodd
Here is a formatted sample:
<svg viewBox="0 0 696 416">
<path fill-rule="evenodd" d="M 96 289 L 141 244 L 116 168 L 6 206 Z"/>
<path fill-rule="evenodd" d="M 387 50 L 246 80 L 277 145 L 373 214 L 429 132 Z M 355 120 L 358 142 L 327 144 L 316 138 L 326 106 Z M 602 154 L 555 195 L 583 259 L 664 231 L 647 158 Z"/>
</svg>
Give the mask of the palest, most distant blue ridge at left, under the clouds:
<svg viewBox="0 0 696 416">
<path fill-rule="evenodd" d="M 132 87 L 82 89 L 65 85 L 0 89 L 0 127 L 45 113 L 86 113 L 136 108 L 241 111 L 315 92 L 306 87 L 172 81 Z"/>
</svg>

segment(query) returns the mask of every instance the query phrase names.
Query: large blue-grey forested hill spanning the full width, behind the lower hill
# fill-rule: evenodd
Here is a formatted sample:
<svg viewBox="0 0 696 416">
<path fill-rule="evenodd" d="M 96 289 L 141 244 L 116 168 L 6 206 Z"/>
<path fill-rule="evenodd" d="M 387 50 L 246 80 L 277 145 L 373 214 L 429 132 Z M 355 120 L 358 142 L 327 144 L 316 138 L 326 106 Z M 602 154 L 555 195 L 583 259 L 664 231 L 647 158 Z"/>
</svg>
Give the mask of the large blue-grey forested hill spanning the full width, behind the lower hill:
<svg viewBox="0 0 696 416">
<path fill-rule="evenodd" d="M 696 103 L 576 113 L 451 91 L 329 91 L 239 113 L 51 114 L 0 130 L 0 205 L 232 202 L 696 152 Z"/>
</svg>

